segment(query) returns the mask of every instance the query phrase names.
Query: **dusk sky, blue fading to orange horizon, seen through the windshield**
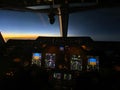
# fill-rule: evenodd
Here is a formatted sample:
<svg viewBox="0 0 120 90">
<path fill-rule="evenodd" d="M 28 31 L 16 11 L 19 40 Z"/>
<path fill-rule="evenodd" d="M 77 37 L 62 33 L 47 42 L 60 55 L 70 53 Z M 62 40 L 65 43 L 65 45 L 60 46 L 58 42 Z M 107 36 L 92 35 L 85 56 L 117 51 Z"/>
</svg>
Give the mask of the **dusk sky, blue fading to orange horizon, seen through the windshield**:
<svg viewBox="0 0 120 90">
<path fill-rule="evenodd" d="M 60 36 L 58 16 L 50 24 L 47 13 L 0 10 L 0 32 L 8 39 Z M 120 8 L 71 13 L 68 36 L 90 36 L 95 41 L 120 41 Z"/>
</svg>

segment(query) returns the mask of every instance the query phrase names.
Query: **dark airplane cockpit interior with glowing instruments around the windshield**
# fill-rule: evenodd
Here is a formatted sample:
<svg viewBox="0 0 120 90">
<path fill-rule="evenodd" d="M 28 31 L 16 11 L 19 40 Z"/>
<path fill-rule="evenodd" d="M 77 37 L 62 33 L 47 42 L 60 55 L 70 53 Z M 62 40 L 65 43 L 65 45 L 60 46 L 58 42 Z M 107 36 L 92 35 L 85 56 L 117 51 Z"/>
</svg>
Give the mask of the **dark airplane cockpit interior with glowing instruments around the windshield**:
<svg viewBox="0 0 120 90">
<path fill-rule="evenodd" d="M 41 90 L 116 88 L 110 80 L 113 65 L 120 63 L 120 42 L 68 36 L 71 13 L 111 7 L 120 7 L 120 3 L 117 0 L 1 0 L 0 10 L 46 13 L 51 25 L 58 16 L 60 36 L 5 42 L 0 33 L 0 86 Z"/>
</svg>

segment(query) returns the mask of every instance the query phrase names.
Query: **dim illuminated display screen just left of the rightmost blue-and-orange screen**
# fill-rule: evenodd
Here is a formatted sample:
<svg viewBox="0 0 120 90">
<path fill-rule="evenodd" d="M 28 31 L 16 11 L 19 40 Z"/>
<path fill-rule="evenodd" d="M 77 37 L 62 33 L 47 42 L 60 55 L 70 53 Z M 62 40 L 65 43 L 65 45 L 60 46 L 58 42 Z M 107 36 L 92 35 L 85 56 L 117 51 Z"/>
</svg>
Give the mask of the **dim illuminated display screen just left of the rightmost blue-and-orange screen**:
<svg viewBox="0 0 120 90">
<path fill-rule="evenodd" d="M 72 55 L 71 57 L 71 70 L 82 70 L 82 59 L 80 55 Z"/>
</svg>

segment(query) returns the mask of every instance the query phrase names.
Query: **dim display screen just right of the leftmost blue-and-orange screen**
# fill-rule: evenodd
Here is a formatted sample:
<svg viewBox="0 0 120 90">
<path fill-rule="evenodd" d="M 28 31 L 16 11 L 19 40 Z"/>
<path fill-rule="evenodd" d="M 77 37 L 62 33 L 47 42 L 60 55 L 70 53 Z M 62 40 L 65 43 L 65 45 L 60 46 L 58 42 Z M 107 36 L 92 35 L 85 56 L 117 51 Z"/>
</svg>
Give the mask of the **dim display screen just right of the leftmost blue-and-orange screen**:
<svg viewBox="0 0 120 90">
<path fill-rule="evenodd" d="M 46 53 L 45 55 L 45 67 L 46 68 L 55 68 L 55 57 L 54 53 Z"/>
</svg>

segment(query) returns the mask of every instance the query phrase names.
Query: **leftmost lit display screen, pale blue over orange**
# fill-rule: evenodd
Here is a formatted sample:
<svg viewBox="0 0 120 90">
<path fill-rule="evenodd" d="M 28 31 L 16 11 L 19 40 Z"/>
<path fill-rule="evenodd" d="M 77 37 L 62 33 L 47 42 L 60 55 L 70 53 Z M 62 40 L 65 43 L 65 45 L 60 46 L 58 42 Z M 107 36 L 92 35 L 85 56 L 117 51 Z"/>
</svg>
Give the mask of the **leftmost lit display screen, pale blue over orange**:
<svg viewBox="0 0 120 90">
<path fill-rule="evenodd" d="M 33 53 L 32 54 L 32 64 L 36 64 L 38 66 L 41 66 L 41 57 L 42 57 L 42 54 L 41 53 Z"/>
</svg>

